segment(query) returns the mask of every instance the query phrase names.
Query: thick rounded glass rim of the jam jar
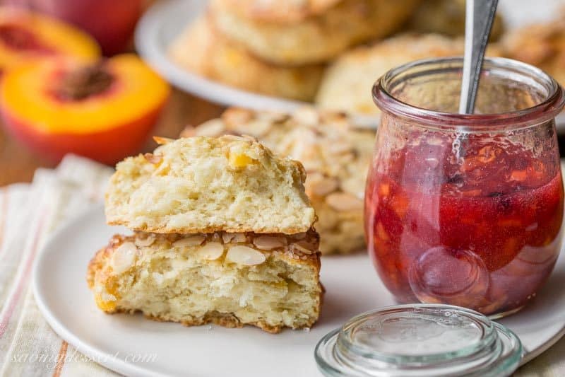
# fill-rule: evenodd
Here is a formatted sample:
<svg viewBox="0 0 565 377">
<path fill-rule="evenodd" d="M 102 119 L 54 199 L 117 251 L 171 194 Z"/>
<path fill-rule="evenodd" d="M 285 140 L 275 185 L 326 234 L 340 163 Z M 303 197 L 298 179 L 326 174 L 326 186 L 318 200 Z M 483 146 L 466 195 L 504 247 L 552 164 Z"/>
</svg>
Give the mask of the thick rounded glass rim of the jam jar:
<svg viewBox="0 0 565 377">
<path fill-rule="evenodd" d="M 395 97 L 390 91 L 391 81 L 411 69 L 426 69 L 426 67 L 442 64 L 443 69 L 463 70 L 463 57 L 444 57 L 420 59 L 403 64 L 386 72 L 376 80 L 372 88 L 374 103 L 383 111 L 393 115 L 416 120 L 418 123 L 440 129 L 457 129 L 466 132 L 479 132 L 495 129 L 518 129 L 540 124 L 554 118 L 565 105 L 563 88 L 551 76 L 530 64 L 503 57 L 485 57 L 481 73 L 491 69 L 515 71 L 518 74 L 528 74 L 540 79 L 548 88 L 548 94 L 540 103 L 530 108 L 492 114 L 460 114 L 441 112 L 410 105 Z M 431 70 L 437 73 L 438 68 Z"/>
</svg>

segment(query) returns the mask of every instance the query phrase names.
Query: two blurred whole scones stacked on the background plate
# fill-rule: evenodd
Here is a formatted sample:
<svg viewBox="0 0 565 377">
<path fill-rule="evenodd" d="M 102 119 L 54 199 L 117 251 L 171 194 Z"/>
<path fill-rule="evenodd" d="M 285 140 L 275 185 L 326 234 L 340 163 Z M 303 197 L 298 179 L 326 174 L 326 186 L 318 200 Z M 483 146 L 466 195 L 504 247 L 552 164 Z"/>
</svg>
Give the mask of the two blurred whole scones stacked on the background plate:
<svg viewBox="0 0 565 377">
<path fill-rule="evenodd" d="M 179 66 L 248 91 L 313 100 L 324 65 L 383 37 L 419 0 L 212 0 L 169 49 Z"/>
</svg>

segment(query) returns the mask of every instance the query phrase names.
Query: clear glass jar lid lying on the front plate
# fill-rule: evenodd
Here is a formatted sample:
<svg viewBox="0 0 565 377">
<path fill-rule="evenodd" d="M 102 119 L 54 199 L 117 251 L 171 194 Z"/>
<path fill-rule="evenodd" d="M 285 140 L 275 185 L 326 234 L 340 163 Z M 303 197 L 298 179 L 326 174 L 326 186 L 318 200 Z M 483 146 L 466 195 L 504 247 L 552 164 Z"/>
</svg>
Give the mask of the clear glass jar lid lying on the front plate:
<svg viewBox="0 0 565 377">
<path fill-rule="evenodd" d="M 522 344 L 511 330 L 458 306 L 388 306 L 349 320 L 316 345 L 325 376 L 509 376 Z"/>
</svg>

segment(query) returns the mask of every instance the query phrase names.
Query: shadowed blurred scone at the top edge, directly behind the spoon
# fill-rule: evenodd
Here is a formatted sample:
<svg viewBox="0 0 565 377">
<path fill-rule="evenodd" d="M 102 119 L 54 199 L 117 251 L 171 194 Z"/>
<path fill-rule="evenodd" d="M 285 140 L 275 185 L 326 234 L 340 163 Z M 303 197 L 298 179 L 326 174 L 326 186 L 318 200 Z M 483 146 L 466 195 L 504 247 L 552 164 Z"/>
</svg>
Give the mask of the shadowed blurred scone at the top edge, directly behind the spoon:
<svg viewBox="0 0 565 377">
<path fill-rule="evenodd" d="M 410 17 L 408 28 L 418 33 L 465 35 L 465 0 L 423 0 Z M 490 40 L 498 40 L 503 33 L 504 21 L 496 13 Z"/>
</svg>

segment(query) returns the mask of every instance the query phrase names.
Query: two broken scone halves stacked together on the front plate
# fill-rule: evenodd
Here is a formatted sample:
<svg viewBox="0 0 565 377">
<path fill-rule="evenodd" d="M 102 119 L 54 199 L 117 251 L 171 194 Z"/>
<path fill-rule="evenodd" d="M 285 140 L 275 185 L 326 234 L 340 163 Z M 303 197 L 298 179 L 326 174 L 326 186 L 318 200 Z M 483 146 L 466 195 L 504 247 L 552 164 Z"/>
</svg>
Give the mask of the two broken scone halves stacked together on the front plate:
<svg viewBox="0 0 565 377">
<path fill-rule="evenodd" d="M 90 262 L 97 306 L 185 325 L 313 325 L 319 236 L 302 165 L 248 138 L 160 141 L 109 184 L 107 222 L 134 233 Z"/>
</svg>

